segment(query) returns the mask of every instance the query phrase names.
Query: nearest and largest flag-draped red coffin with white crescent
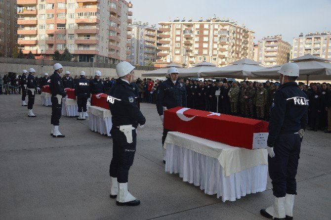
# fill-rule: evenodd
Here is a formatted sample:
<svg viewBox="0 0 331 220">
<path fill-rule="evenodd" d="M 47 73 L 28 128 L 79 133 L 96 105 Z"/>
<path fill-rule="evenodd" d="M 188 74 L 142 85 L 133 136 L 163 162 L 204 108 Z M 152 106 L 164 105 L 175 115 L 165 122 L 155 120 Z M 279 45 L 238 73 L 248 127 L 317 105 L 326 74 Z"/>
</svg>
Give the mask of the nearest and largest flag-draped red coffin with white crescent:
<svg viewBox="0 0 331 220">
<path fill-rule="evenodd" d="M 196 109 L 175 107 L 164 112 L 164 127 L 231 146 L 267 148 L 268 123 Z"/>
</svg>

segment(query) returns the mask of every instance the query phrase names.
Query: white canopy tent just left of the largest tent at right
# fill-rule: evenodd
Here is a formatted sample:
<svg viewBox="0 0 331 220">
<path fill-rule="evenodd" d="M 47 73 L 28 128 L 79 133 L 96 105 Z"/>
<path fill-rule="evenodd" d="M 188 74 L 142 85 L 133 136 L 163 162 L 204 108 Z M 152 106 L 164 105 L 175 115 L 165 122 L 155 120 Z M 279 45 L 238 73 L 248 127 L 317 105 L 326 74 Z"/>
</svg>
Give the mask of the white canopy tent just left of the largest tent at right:
<svg viewBox="0 0 331 220">
<path fill-rule="evenodd" d="M 232 63 L 232 65 L 219 67 L 218 69 L 209 68 L 201 73 L 202 77 L 221 77 L 221 78 L 236 78 L 246 80 L 251 76 L 252 71 L 264 69 L 260 63 L 254 60 L 244 58 Z"/>
</svg>

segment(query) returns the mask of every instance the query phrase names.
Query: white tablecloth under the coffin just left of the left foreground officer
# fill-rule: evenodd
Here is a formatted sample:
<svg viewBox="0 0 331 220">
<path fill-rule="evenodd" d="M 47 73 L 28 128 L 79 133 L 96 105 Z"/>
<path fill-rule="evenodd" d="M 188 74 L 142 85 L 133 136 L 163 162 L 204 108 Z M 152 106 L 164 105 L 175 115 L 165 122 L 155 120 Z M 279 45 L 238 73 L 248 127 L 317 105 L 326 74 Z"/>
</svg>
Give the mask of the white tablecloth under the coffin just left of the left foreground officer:
<svg viewBox="0 0 331 220">
<path fill-rule="evenodd" d="M 89 106 L 88 127 L 91 131 L 99 132 L 100 134 L 110 135 L 112 129 L 112 114 L 110 110 L 98 106 Z"/>
</svg>

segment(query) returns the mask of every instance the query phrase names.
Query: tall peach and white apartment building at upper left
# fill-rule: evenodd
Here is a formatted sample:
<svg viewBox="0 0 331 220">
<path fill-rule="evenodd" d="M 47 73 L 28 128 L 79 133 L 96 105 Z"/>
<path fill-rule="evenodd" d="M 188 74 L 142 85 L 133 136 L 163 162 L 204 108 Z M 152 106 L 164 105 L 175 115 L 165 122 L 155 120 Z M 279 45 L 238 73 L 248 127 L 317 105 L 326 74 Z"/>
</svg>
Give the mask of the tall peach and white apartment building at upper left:
<svg viewBox="0 0 331 220">
<path fill-rule="evenodd" d="M 23 53 L 53 59 L 68 48 L 73 60 L 126 60 L 132 4 L 125 0 L 17 0 L 18 44 Z"/>
</svg>

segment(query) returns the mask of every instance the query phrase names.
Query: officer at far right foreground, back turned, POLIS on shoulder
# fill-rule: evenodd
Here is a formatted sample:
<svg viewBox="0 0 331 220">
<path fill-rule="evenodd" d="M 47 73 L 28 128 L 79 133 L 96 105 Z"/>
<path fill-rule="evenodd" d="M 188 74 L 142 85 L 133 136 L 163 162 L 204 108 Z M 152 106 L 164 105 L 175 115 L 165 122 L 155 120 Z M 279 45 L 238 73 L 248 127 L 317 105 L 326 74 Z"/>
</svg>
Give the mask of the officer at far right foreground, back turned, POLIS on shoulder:
<svg viewBox="0 0 331 220">
<path fill-rule="evenodd" d="M 267 140 L 274 203 L 260 213 L 274 220 L 291 220 L 300 146 L 308 121 L 308 99 L 295 83 L 299 76 L 297 64 L 286 63 L 278 73 L 282 86 L 275 93 Z"/>
</svg>

